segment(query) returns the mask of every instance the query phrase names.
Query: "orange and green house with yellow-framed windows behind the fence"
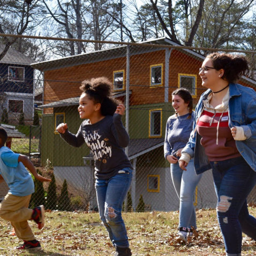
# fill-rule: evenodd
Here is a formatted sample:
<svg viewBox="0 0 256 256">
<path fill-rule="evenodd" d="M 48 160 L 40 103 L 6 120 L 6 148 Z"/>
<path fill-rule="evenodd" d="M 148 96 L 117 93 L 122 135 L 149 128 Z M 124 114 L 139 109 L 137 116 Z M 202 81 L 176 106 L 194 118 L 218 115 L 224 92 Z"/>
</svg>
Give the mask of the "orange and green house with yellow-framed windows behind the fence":
<svg viewBox="0 0 256 256">
<path fill-rule="evenodd" d="M 198 75 L 204 56 L 175 46 L 178 45 L 163 37 L 140 45 L 32 64 L 34 69 L 44 72 L 42 163 L 47 159 L 52 162 L 56 180 L 63 182 L 65 178 L 73 187 L 82 187 L 88 180 L 93 183 L 93 169 L 88 163 L 85 166 L 83 161 L 83 157 L 85 162 L 90 160 L 87 147 L 72 148 L 55 129 L 65 122 L 69 130 L 76 133 L 81 124 L 77 111 L 81 81 L 107 77 L 112 81 L 115 97 L 129 102 L 124 123 L 131 138 L 126 152 L 134 167 L 133 208 L 142 194 L 147 209 L 178 209 L 170 166 L 163 156 L 165 124 L 174 114 L 171 93 L 177 87 L 186 87 L 196 104 L 205 88 L 202 88 Z M 256 85 L 248 78 L 242 78 L 240 82 L 251 87 Z M 126 101 L 128 97 L 129 101 Z M 195 204 L 197 207 L 214 207 L 215 203 L 212 175 L 206 172 L 195 194 Z"/>
</svg>

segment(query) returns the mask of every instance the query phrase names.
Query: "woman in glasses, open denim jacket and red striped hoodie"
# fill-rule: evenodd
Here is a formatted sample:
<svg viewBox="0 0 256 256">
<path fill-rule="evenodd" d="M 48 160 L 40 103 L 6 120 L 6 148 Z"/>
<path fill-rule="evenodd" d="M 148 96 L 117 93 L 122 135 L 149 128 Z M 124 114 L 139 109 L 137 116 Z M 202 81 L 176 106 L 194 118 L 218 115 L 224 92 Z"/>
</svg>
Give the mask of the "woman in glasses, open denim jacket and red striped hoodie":
<svg viewBox="0 0 256 256">
<path fill-rule="evenodd" d="M 225 250 L 240 256 L 242 232 L 256 240 L 246 201 L 256 184 L 256 93 L 235 83 L 249 71 L 243 56 L 210 54 L 199 71 L 208 90 L 195 108 L 194 133 L 179 165 L 185 170 L 194 156 L 197 174 L 212 169 Z"/>
</svg>

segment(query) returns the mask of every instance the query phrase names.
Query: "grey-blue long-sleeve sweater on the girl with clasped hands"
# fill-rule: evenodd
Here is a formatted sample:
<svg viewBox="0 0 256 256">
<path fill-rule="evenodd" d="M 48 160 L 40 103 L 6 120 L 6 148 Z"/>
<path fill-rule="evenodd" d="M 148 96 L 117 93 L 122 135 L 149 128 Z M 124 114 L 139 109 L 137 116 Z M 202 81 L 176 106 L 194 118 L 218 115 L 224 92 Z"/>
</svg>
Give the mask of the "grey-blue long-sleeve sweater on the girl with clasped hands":
<svg viewBox="0 0 256 256">
<path fill-rule="evenodd" d="M 193 128 L 194 112 L 191 118 L 189 114 L 183 116 L 172 115 L 168 118 L 164 139 L 164 157 L 168 155 L 176 156 L 179 148 L 184 148 L 189 141 L 190 133 Z"/>
</svg>

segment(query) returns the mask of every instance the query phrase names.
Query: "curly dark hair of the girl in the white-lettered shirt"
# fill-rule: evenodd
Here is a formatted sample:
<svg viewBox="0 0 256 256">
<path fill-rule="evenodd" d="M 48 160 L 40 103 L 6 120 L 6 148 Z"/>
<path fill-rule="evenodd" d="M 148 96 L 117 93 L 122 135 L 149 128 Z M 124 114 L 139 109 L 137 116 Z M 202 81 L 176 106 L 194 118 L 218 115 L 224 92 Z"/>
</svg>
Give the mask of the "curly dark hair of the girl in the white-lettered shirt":
<svg viewBox="0 0 256 256">
<path fill-rule="evenodd" d="M 82 94 L 86 93 L 94 103 L 101 104 L 101 114 L 103 116 L 114 115 L 119 101 L 112 97 L 112 84 L 106 77 L 84 80 L 81 84 Z"/>
</svg>

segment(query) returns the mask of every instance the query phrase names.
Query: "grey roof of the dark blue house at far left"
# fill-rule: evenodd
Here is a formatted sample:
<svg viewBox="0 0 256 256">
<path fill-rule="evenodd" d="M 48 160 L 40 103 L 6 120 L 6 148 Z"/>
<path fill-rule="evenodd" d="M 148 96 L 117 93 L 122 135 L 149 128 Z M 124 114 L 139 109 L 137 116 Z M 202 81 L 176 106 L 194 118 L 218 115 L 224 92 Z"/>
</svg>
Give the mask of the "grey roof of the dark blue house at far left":
<svg viewBox="0 0 256 256">
<path fill-rule="evenodd" d="M 0 52 L 4 50 L 4 47 L 4 44 L 0 43 Z M 11 47 L 6 52 L 4 57 L 0 59 L 0 63 L 6 64 L 31 65 L 34 62 L 35 61 L 32 58 L 25 56 L 21 52 Z"/>
</svg>

